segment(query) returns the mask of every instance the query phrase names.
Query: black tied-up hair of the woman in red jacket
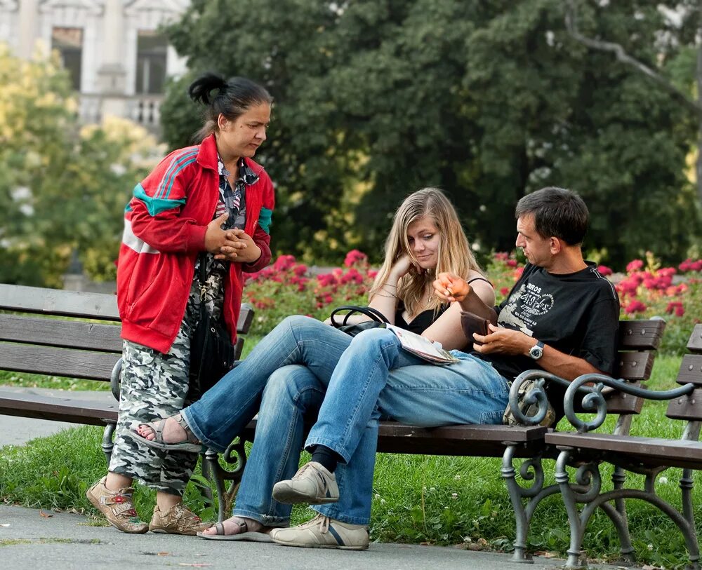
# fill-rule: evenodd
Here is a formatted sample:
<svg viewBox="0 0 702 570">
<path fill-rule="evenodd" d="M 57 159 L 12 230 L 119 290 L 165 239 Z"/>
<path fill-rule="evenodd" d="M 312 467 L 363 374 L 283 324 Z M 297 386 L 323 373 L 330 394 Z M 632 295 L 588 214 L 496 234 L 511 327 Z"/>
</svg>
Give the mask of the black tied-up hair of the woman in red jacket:
<svg viewBox="0 0 702 570">
<path fill-rule="evenodd" d="M 217 90 L 217 93 L 212 96 L 214 90 Z M 211 72 L 202 74 L 193 81 L 187 93 L 193 101 L 207 105 L 205 124 L 194 136 L 197 142 L 216 133 L 217 118 L 220 114 L 230 121 L 235 121 L 254 105 L 273 102 L 270 93 L 251 79 L 230 77 L 225 80 L 223 76 Z"/>
</svg>

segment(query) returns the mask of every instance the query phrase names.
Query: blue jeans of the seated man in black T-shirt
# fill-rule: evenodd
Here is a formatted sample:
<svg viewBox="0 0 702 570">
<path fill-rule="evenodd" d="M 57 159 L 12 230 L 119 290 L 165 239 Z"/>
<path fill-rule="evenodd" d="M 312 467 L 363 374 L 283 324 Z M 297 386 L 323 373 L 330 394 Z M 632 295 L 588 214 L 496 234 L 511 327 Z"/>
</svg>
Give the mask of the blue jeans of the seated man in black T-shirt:
<svg viewBox="0 0 702 570">
<path fill-rule="evenodd" d="M 402 350 L 399 344 L 395 346 L 395 352 Z M 355 352 L 354 347 L 365 352 Z M 458 362 L 437 366 L 395 352 L 392 343 L 378 332 L 366 335 L 363 343 L 352 342 L 341 359 L 346 361 L 345 370 L 349 375 L 345 378 L 338 376 L 342 370 L 340 361 L 319 419 L 307 437 L 306 445 L 322 443 L 342 455 L 342 452 L 353 449 L 345 469 L 347 472 L 355 469 L 356 473 L 354 477 L 347 477 L 343 491 L 339 488 L 339 503 L 315 508 L 329 517 L 366 524 L 364 516 L 349 520 L 352 505 L 356 505 L 354 513 L 365 509 L 366 520 L 370 516 L 373 480 L 357 473 L 360 466 L 372 473 L 375 465 L 375 446 L 367 445 L 365 436 L 367 429 L 376 423 L 378 412 L 403 423 L 426 427 L 502 421 L 509 386 L 488 362 L 453 351 Z M 407 362 L 409 365 L 402 365 Z M 401 367 L 388 372 L 389 367 L 398 363 Z M 369 409 L 368 400 L 372 400 L 373 391 L 378 386 L 381 386 L 380 391 L 373 403 L 377 407 L 371 408 L 366 416 L 366 430 L 359 430 L 357 426 L 364 419 L 361 412 L 366 413 Z M 332 389 L 336 393 L 334 398 Z M 351 427 L 345 431 L 347 426 Z M 342 465 L 338 466 L 337 477 L 342 469 Z"/>
</svg>

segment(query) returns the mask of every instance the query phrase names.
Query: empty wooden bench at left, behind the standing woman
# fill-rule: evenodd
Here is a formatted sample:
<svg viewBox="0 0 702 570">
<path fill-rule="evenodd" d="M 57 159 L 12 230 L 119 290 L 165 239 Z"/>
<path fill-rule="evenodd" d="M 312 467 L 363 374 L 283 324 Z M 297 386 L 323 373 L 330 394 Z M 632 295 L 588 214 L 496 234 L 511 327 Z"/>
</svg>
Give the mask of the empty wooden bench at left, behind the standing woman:
<svg viewBox="0 0 702 570">
<path fill-rule="evenodd" d="M 117 297 L 0 284 L 0 369 L 110 382 L 114 402 L 0 389 L 0 414 L 105 426 L 102 450 L 110 461 L 119 405 Z M 28 314 L 29 313 L 29 314 Z M 237 332 L 248 332 L 253 309 L 241 305 Z M 237 358 L 244 339 L 237 341 Z"/>
</svg>

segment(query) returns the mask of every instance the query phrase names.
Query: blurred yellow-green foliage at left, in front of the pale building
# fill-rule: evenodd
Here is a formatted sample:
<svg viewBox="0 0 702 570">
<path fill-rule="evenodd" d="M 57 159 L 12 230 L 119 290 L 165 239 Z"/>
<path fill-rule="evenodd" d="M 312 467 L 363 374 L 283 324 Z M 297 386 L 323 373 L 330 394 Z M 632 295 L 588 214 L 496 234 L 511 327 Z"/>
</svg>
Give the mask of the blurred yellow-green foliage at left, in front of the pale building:
<svg viewBox="0 0 702 570">
<path fill-rule="evenodd" d="M 124 206 L 162 150 L 123 119 L 81 129 L 58 60 L 0 45 L 0 282 L 60 287 L 74 251 L 114 278 Z"/>
</svg>

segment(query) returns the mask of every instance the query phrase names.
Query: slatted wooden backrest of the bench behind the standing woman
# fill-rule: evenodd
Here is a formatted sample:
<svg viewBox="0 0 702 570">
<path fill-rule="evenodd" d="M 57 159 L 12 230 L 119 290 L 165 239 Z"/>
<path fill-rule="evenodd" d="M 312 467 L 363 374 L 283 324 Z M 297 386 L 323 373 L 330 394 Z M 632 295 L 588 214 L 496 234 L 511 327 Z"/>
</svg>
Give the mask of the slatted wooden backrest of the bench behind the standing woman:
<svg viewBox="0 0 702 570">
<path fill-rule="evenodd" d="M 14 312 L 0 313 L 0 369 L 110 381 L 122 351 L 115 295 L 0 284 L 0 311 Z M 252 319 L 242 305 L 237 332 Z"/>
</svg>

